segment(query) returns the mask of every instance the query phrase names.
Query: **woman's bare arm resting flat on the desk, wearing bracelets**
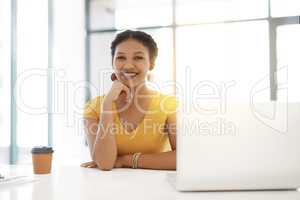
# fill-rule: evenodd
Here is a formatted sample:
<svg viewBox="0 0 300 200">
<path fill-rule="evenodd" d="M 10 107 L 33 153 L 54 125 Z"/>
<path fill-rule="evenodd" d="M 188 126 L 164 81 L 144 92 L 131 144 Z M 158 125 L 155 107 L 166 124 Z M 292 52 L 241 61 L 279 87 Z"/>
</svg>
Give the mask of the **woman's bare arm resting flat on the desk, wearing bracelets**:
<svg viewBox="0 0 300 200">
<path fill-rule="evenodd" d="M 172 151 L 142 154 L 138 160 L 138 168 L 176 170 L 176 113 L 168 117 L 166 129 Z M 132 167 L 132 155 L 125 155 L 122 160 L 123 167 Z"/>
</svg>

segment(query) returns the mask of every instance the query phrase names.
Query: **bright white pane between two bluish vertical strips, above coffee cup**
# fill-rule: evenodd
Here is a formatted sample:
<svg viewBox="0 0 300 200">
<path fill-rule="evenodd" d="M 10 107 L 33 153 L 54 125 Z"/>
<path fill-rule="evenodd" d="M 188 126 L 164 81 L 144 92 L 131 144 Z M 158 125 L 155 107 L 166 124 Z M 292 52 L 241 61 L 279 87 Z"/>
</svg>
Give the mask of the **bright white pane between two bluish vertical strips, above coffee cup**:
<svg viewBox="0 0 300 200">
<path fill-rule="evenodd" d="M 17 20 L 17 144 L 47 145 L 48 1 L 19 1 Z"/>
</svg>

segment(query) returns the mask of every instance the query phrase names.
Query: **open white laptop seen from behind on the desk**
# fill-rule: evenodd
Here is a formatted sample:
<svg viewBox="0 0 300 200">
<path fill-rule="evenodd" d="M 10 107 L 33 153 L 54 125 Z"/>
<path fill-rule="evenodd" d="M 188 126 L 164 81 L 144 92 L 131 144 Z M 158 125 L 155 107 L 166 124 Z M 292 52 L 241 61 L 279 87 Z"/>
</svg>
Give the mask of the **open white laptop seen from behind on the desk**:
<svg viewBox="0 0 300 200">
<path fill-rule="evenodd" d="M 300 103 L 181 107 L 177 126 L 179 191 L 300 187 Z"/>
</svg>

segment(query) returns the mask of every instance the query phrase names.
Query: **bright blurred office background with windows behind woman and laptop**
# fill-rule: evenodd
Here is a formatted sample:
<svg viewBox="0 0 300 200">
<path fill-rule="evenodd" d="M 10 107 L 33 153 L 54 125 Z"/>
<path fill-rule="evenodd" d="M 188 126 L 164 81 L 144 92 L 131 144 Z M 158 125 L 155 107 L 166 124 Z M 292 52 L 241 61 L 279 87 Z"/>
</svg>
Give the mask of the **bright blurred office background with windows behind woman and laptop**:
<svg viewBox="0 0 300 200">
<path fill-rule="evenodd" d="M 263 83 L 258 99 L 299 101 L 299 15 L 299 0 L 0 0 L 0 163 L 30 163 L 36 145 L 59 164 L 89 159 L 82 109 L 109 89 L 124 29 L 157 41 L 149 79 L 164 93 L 234 80 L 229 100 Z"/>
</svg>

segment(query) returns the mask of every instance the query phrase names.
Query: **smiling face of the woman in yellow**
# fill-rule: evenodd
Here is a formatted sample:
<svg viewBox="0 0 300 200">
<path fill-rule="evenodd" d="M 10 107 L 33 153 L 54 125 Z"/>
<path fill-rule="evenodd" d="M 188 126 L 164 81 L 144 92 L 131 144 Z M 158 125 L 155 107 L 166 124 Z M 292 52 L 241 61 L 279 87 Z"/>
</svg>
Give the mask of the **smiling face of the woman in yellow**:
<svg viewBox="0 0 300 200">
<path fill-rule="evenodd" d="M 128 39 L 117 45 L 113 68 L 118 80 L 128 87 L 144 83 L 150 68 L 148 49 L 135 39 Z"/>
</svg>

